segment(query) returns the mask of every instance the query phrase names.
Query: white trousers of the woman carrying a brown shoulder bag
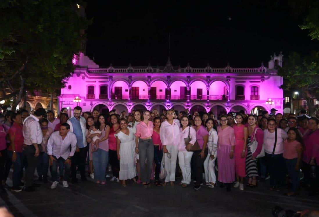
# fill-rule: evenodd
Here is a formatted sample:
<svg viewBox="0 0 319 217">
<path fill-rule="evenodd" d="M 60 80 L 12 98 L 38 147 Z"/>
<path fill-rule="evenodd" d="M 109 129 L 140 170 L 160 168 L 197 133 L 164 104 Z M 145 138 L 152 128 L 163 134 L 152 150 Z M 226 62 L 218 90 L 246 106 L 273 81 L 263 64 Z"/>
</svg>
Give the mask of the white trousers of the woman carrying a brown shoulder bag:
<svg viewBox="0 0 319 217">
<path fill-rule="evenodd" d="M 192 160 L 193 152 L 181 151 L 178 152 L 178 164 L 180 165 L 182 171 L 182 183 L 190 184 L 190 161 Z"/>
</svg>

